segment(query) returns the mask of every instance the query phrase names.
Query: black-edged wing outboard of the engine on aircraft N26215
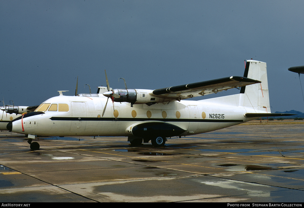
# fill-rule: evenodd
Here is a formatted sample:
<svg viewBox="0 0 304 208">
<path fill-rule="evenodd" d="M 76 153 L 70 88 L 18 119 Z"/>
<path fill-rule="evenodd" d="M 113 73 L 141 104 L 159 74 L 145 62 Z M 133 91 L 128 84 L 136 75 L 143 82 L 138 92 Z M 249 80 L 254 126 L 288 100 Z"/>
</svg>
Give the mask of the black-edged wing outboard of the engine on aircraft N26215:
<svg viewBox="0 0 304 208">
<path fill-rule="evenodd" d="M 156 97 L 171 98 L 180 101 L 191 97 L 218 93 L 223 90 L 243 87 L 256 83 L 261 83 L 261 81 L 249 79 L 247 77 L 232 76 L 216 80 L 209 80 L 157 89 L 153 90 L 153 95 Z"/>
</svg>

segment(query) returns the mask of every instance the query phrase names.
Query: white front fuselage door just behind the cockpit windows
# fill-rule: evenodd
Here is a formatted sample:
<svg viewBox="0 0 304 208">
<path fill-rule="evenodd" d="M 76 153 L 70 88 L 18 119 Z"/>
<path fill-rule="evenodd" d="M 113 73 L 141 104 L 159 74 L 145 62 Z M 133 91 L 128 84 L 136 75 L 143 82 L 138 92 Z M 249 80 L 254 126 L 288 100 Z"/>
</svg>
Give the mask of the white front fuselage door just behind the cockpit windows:
<svg viewBox="0 0 304 208">
<path fill-rule="evenodd" d="M 72 118 L 70 131 L 85 131 L 87 106 L 85 102 L 71 102 Z M 76 118 L 76 119 L 75 119 Z"/>
</svg>

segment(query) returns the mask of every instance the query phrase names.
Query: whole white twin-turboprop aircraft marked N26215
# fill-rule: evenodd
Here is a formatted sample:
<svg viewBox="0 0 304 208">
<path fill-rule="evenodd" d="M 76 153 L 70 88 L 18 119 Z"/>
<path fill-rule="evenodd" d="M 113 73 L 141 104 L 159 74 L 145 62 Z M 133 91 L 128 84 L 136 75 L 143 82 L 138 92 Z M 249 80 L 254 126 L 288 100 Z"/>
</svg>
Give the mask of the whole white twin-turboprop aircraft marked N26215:
<svg viewBox="0 0 304 208">
<path fill-rule="evenodd" d="M 163 146 L 169 137 L 201 134 L 259 117 L 294 115 L 271 113 L 266 63 L 260 61 L 247 60 L 244 77 L 157 90 L 112 90 L 106 80 L 107 88 L 99 87 L 97 94 L 64 96 L 59 91 L 59 96 L 9 122 L 7 128 L 28 135 L 32 150 L 40 147 L 31 142 L 35 135 L 126 136 L 134 145 L 151 140 L 152 145 Z M 184 100 L 238 87 L 240 94 Z M 107 106 L 108 98 L 113 105 Z"/>
</svg>

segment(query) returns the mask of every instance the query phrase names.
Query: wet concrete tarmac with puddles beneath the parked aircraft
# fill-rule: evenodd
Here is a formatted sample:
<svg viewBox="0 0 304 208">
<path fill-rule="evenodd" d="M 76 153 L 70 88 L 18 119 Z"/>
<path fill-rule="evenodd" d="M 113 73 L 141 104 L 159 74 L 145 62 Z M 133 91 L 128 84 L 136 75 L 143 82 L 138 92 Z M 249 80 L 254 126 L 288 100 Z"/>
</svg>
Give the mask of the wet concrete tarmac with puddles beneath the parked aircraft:
<svg viewBox="0 0 304 208">
<path fill-rule="evenodd" d="M 0 133 L 1 202 L 303 202 L 303 124 L 237 125 L 171 138 Z M 80 141 L 79 141 L 80 140 Z"/>
</svg>

